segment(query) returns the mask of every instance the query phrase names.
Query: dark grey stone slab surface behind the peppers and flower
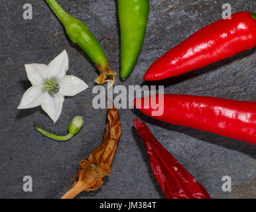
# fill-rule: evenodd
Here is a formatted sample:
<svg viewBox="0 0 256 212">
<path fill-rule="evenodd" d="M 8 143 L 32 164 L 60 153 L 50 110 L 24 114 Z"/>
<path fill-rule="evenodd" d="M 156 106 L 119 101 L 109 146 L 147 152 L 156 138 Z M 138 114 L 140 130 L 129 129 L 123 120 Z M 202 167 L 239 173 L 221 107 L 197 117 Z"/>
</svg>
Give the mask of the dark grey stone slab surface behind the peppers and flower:
<svg viewBox="0 0 256 212">
<path fill-rule="evenodd" d="M 94 109 L 92 93 L 97 77 L 92 62 L 73 44 L 45 1 L 0 1 L 0 197 L 60 198 L 72 184 L 78 162 L 101 142 L 106 109 Z M 31 3 L 32 20 L 23 19 L 23 5 Z M 119 26 L 114 0 L 58 0 L 96 38 L 110 38 L 101 45 L 113 70 L 119 72 Z M 133 74 L 115 85 L 143 85 L 141 78 L 149 66 L 167 50 L 190 34 L 222 18 L 222 4 L 230 3 L 232 13 L 256 11 L 256 1 L 151 0 L 145 43 Z M 66 98 L 60 119 L 53 124 L 40 109 L 18 111 L 17 105 L 31 86 L 24 64 L 48 64 L 66 49 L 68 74 L 90 86 Z M 255 48 L 200 70 L 157 83 L 165 93 L 210 95 L 255 101 Z M 150 85 L 150 84 L 149 84 Z M 106 85 L 105 85 L 106 87 Z M 85 126 L 68 142 L 50 140 L 33 128 L 33 121 L 56 134 L 65 134 L 75 115 Z M 97 191 L 77 198 L 164 198 L 147 159 L 143 143 L 133 128 L 141 119 L 161 144 L 182 164 L 212 198 L 255 198 L 256 147 L 239 140 L 169 125 L 151 119 L 135 109 L 120 109 L 123 134 L 113 161 L 113 172 Z M 33 191 L 23 191 L 23 177 L 32 176 Z M 222 191 L 222 177 L 230 176 L 232 191 Z"/>
</svg>

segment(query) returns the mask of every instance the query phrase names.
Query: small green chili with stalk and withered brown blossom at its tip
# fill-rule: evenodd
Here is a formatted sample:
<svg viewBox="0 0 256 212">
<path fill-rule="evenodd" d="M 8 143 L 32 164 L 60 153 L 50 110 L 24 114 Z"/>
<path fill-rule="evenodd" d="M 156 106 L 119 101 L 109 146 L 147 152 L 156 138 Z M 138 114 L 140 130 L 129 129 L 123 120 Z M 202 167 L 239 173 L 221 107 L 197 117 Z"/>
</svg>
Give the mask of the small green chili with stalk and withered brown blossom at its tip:
<svg viewBox="0 0 256 212">
<path fill-rule="evenodd" d="M 68 15 L 55 0 L 46 0 L 46 2 L 64 25 L 70 39 L 78 44 L 96 64 L 95 66 L 99 70 L 99 77 L 95 80 L 96 83 L 102 84 L 112 80 L 113 85 L 115 83 L 115 73 L 109 67 L 107 58 L 94 34 L 84 23 Z"/>
</svg>

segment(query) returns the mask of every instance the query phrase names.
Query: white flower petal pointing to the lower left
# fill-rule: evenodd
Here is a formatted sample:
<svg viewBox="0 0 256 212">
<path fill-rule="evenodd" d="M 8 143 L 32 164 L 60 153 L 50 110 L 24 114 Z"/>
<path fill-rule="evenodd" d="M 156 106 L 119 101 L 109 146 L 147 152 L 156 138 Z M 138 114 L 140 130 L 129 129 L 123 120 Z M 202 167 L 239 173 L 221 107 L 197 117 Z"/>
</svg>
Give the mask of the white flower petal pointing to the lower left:
<svg viewBox="0 0 256 212">
<path fill-rule="evenodd" d="M 18 109 L 27 109 L 41 105 L 46 90 L 42 86 L 32 86 L 23 94 Z"/>
</svg>

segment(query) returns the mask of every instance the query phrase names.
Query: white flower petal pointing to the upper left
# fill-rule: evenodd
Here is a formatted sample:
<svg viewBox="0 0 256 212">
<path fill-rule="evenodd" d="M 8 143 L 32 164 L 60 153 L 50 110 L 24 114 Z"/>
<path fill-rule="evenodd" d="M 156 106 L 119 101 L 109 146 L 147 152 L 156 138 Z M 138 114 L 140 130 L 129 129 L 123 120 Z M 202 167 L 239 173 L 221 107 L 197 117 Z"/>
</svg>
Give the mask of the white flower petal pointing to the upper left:
<svg viewBox="0 0 256 212">
<path fill-rule="evenodd" d="M 25 64 L 25 68 L 32 85 L 44 85 L 48 79 L 48 66 L 45 64 Z"/>
</svg>

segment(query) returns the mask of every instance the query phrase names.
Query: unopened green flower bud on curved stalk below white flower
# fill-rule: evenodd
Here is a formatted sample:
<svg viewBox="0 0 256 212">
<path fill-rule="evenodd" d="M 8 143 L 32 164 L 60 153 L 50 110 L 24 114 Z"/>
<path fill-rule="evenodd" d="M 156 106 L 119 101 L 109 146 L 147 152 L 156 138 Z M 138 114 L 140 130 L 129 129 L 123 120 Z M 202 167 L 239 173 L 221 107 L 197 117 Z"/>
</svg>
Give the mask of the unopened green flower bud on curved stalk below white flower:
<svg viewBox="0 0 256 212">
<path fill-rule="evenodd" d="M 70 140 L 70 138 L 72 138 L 75 134 L 77 134 L 81 130 L 83 125 L 84 125 L 83 117 L 80 117 L 80 116 L 74 117 L 70 122 L 70 124 L 68 125 L 68 134 L 64 136 L 59 136 L 59 135 L 44 131 L 44 129 L 41 129 L 37 125 L 34 125 L 34 128 L 36 129 L 36 131 L 40 132 L 44 136 L 47 136 L 48 138 L 52 138 L 53 140 L 65 141 L 65 140 Z"/>
</svg>

